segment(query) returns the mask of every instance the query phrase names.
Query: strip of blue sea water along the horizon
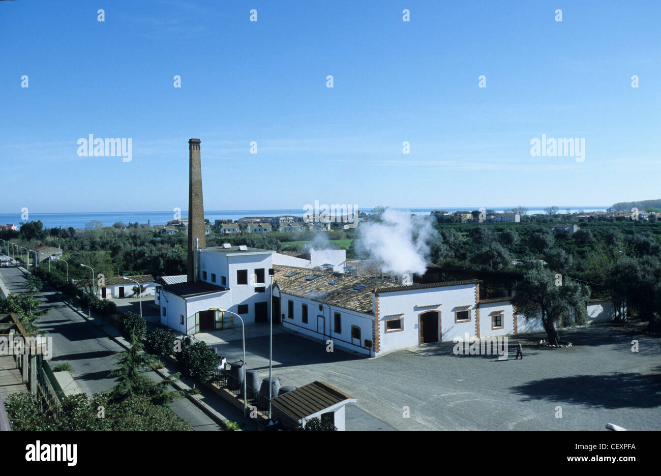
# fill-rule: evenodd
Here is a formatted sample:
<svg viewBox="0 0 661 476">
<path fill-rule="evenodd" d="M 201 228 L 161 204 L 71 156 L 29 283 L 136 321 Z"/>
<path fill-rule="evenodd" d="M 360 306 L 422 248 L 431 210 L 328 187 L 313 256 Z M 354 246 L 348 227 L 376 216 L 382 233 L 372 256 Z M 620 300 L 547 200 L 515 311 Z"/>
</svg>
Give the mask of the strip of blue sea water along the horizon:
<svg viewBox="0 0 661 476">
<path fill-rule="evenodd" d="M 494 210 L 496 212 L 502 212 L 506 207 L 489 207 L 488 210 Z M 530 207 L 528 214 L 542 214 L 544 213 L 544 207 Z M 564 213 L 566 209 L 569 209 L 571 212 L 578 212 L 578 210 L 583 210 L 584 212 L 598 212 L 603 211 L 607 206 L 587 206 L 587 207 L 559 207 L 559 213 Z M 371 208 L 360 209 L 364 212 L 370 212 Z M 395 210 L 403 210 L 406 212 L 414 214 L 430 214 L 432 210 L 447 210 L 447 212 L 459 212 L 461 210 L 477 210 L 475 207 L 464 207 L 464 208 L 395 208 Z M 291 215 L 291 216 L 303 216 L 304 210 L 295 209 L 295 210 L 205 210 L 204 218 L 209 219 L 214 223 L 215 219 L 237 219 L 245 216 L 280 216 L 280 215 Z M 180 218 L 188 218 L 188 211 L 182 210 Z M 37 221 L 41 220 L 44 223 L 44 228 L 68 228 L 74 227 L 77 229 L 84 229 L 85 223 L 89 223 L 93 220 L 100 221 L 103 226 L 112 226 L 117 221 L 122 221 L 122 223 L 149 223 L 151 225 L 165 225 L 168 221 L 175 219 L 175 212 L 171 211 L 161 211 L 161 212 L 92 212 L 92 213 L 30 213 L 27 218 L 21 218 L 20 213 L 16 214 L 0 214 L 0 224 L 5 225 L 11 223 L 14 225 L 19 225 L 21 222 L 25 221 Z"/>
</svg>

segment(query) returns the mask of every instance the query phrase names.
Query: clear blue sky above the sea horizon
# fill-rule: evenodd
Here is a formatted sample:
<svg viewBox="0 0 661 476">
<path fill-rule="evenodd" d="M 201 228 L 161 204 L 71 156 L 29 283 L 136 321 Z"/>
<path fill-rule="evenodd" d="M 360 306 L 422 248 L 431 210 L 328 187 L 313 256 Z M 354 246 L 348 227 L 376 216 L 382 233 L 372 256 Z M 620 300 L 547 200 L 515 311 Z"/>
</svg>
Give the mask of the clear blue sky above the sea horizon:
<svg viewBox="0 0 661 476">
<path fill-rule="evenodd" d="M 659 198 L 661 5 L 633 4 L 2 1 L 0 212 L 185 210 L 189 138 L 208 210 Z"/>
</svg>

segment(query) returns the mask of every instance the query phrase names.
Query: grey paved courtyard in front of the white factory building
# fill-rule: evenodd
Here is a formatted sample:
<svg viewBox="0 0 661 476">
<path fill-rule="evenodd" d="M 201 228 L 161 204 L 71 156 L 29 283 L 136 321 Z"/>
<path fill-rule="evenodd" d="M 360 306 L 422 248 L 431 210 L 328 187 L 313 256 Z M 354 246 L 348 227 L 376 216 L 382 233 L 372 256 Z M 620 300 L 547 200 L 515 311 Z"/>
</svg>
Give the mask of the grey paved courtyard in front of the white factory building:
<svg viewBox="0 0 661 476">
<path fill-rule="evenodd" d="M 574 345 L 560 349 L 537 346 L 544 333 L 520 334 L 523 360 L 514 360 L 512 339 L 508 360 L 456 356 L 451 342 L 369 359 L 278 331 L 273 375 L 282 385 L 327 381 L 397 430 L 661 429 L 659 338 L 634 328 L 561 332 Z M 228 362 L 241 358 L 240 331 L 212 334 Z M 633 339 L 639 352 L 631 352 Z M 268 325 L 247 327 L 246 352 L 247 368 L 268 377 Z"/>
</svg>

